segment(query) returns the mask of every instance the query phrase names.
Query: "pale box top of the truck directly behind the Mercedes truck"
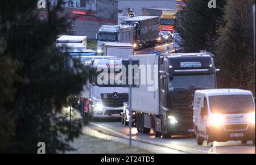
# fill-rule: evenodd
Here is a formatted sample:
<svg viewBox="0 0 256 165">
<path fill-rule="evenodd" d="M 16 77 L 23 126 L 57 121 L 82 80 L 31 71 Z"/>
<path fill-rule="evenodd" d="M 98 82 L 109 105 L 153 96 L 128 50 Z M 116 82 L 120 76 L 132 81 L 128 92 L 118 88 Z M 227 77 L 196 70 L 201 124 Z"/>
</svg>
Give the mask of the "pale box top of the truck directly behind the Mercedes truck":
<svg viewBox="0 0 256 165">
<path fill-rule="evenodd" d="M 104 56 L 115 56 L 125 59 L 133 54 L 134 46 L 131 43 L 104 42 Z"/>
</svg>

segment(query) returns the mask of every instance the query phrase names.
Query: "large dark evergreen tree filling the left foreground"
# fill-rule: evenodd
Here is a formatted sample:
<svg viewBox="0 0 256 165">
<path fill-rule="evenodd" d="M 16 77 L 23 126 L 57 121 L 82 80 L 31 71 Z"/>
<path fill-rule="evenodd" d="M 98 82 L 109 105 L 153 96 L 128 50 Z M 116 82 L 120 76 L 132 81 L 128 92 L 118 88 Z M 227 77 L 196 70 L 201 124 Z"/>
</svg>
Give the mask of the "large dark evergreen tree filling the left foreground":
<svg viewBox="0 0 256 165">
<path fill-rule="evenodd" d="M 68 54 L 55 47 L 69 27 L 56 16 L 60 4 L 47 7 L 48 18 L 41 20 L 35 0 L 0 1 L 1 153 L 36 153 L 38 142 L 46 143 L 47 153 L 71 150 L 69 141 L 81 133 L 81 123 L 70 126 L 60 111 L 90 70 L 75 60 L 65 67 Z"/>
</svg>

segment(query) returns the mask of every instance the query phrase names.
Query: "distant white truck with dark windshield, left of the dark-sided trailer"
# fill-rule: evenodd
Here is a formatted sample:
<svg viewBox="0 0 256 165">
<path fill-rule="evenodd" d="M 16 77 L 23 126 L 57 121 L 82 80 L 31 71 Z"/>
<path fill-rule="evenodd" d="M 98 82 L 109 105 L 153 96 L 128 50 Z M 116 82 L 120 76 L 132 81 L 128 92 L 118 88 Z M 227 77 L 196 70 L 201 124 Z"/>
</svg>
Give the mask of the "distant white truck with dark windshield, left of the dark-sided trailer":
<svg viewBox="0 0 256 165">
<path fill-rule="evenodd" d="M 133 44 L 133 31 L 132 26 L 107 26 L 102 25 L 96 35 L 98 40 L 97 52 L 102 54 L 104 52 L 104 42 L 115 43 L 131 43 Z"/>
</svg>

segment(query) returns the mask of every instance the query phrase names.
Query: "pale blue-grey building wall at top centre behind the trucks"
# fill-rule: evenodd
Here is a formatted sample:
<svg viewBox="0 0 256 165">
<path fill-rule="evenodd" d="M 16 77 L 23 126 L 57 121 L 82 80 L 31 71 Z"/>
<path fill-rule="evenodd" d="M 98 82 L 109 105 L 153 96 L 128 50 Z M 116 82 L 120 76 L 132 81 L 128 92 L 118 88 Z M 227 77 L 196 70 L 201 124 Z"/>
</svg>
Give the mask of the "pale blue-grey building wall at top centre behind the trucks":
<svg viewBox="0 0 256 165">
<path fill-rule="evenodd" d="M 118 15 L 141 16 L 143 7 L 172 10 L 177 8 L 176 0 L 118 0 Z"/>
</svg>

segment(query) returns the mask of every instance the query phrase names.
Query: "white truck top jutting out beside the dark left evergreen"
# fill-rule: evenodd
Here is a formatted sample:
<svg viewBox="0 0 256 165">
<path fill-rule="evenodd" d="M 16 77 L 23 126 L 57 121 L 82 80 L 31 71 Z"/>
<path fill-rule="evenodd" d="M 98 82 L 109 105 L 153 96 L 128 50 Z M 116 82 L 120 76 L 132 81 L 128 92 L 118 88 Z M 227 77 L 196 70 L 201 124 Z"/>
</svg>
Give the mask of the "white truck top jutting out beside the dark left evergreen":
<svg viewBox="0 0 256 165">
<path fill-rule="evenodd" d="M 56 44 L 83 44 L 87 48 L 87 36 L 60 36 Z"/>
</svg>

